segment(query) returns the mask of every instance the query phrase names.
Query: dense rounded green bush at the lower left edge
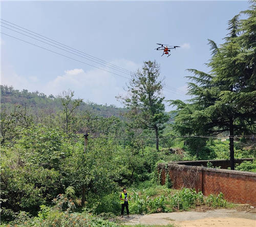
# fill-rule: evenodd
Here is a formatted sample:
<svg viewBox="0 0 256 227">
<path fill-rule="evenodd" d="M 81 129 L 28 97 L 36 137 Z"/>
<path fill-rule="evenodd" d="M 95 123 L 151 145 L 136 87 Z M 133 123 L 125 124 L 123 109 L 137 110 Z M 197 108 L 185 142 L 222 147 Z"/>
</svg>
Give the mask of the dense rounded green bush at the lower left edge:
<svg viewBox="0 0 256 227">
<path fill-rule="evenodd" d="M 35 214 L 39 206 L 50 203 L 52 195 L 60 191 L 59 173 L 54 169 L 44 169 L 27 164 L 12 169 L 3 166 L 1 183 L 6 199 L 2 207 L 15 212 L 23 210 Z"/>
</svg>

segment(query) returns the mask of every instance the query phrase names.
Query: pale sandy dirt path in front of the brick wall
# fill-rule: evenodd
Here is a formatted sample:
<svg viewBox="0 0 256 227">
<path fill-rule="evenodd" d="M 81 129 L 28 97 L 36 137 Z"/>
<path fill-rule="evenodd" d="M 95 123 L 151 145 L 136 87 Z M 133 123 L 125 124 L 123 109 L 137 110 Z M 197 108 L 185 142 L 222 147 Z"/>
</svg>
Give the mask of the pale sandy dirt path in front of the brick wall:
<svg viewBox="0 0 256 227">
<path fill-rule="evenodd" d="M 255 209 L 254 209 L 255 210 Z M 206 212 L 174 212 L 124 217 L 127 224 L 175 224 L 181 227 L 256 227 L 256 211 L 218 209 Z"/>
</svg>

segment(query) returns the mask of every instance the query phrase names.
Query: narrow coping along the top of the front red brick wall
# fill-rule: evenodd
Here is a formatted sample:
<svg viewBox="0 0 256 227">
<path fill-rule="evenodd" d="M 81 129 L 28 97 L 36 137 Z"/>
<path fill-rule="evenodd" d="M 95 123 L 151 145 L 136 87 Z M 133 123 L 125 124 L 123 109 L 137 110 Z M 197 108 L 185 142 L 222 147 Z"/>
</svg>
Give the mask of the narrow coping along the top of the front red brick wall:
<svg viewBox="0 0 256 227">
<path fill-rule="evenodd" d="M 159 164 L 160 167 L 165 167 L 164 163 Z M 204 170 L 209 172 L 218 172 L 218 173 L 226 173 L 226 174 L 237 174 L 237 175 L 243 175 L 243 176 L 253 176 L 256 177 L 256 173 L 254 172 L 247 172 L 247 171 L 239 171 L 239 170 L 228 170 L 228 169 L 216 169 L 216 168 L 207 168 L 203 166 L 186 166 L 186 165 L 179 165 L 175 162 L 168 163 L 168 167 L 181 167 L 184 169 L 195 169 L 195 170 Z"/>
</svg>

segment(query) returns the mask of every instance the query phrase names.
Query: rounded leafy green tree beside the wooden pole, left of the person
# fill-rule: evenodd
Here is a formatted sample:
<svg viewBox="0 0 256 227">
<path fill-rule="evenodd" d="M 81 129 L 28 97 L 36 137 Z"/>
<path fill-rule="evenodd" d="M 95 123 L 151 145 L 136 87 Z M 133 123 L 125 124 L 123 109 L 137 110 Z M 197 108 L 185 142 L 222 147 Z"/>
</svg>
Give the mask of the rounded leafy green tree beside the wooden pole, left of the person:
<svg viewBox="0 0 256 227">
<path fill-rule="evenodd" d="M 90 193 L 102 195 L 102 192 L 111 192 L 120 177 L 116 155 L 117 145 L 112 140 L 89 137 L 86 153 L 80 144 L 72 156 L 67 158 L 63 169 L 66 175 L 65 184 L 73 186 L 79 196 L 84 190 L 85 199 Z"/>
</svg>

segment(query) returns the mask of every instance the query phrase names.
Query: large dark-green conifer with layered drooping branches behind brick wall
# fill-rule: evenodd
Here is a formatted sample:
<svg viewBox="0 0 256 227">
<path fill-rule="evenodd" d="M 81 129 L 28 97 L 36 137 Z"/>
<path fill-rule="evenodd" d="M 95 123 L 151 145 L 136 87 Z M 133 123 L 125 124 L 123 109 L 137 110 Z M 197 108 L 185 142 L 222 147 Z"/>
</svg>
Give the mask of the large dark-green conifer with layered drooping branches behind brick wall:
<svg viewBox="0 0 256 227">
<path fill-rule="evenodd" d="M 254 7 L 255 10 L 255 7 Z M 255 62 L 244 58 L 251 50 L 241 45 L 241 21 L 234 16 L 228 23 L 229 36 L 220 47 L 210 40 L 210 74 L 189 70 L 190 103 L 171 101 L 178 108 L 176 129 L 183 135 L 216 135 L 229 132 L 231 169 L 234 169 L 234 134 L 252 133 L 255 125 Z M 245 25 L 246 22 L 244 21 Z M 255 39 L 254 39 L 255 40 Z M 253 49 L 254 55 L 256 49 Z"/>
</svg>

